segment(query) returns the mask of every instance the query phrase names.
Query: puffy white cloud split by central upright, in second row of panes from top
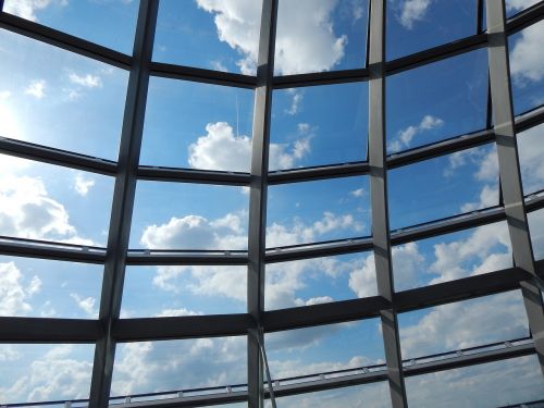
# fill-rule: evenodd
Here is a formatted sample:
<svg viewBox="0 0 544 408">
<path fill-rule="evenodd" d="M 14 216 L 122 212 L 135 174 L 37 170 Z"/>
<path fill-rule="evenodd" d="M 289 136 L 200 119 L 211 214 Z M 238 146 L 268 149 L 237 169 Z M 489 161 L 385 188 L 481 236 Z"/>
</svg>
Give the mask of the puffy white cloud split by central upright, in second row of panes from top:
<svg viewBox="0 0 544 408">
<path fill-rule="evenodd" d="M 289 169 L 310 151 L 311 133 L 307 127 L 298 129 L 300 138 L 292 145 L 270 145 L 271 170 Z M 226 122 L 206 125 L 206 136 L 200 136 L 188 148 L 189 165 L 195 169 L 249 172 L 251 164 L 251 138 L 234 135 Z"/>
</svg>

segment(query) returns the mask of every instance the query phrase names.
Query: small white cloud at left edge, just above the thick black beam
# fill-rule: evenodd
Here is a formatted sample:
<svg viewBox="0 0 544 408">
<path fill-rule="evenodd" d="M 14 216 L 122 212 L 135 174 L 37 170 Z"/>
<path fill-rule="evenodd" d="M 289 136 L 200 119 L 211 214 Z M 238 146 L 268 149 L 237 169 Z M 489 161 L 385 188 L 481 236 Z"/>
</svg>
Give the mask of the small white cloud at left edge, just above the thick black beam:
<svg viewBox="0 0 544 408">
<path fill-rule="evenodd" d="M 14 262 L 0 263 L 0 316 L 25 316 L 33 310 L 28 300 L 39 292 L 41 281 L 33 276 L 25 283 Z"/>
</svg>

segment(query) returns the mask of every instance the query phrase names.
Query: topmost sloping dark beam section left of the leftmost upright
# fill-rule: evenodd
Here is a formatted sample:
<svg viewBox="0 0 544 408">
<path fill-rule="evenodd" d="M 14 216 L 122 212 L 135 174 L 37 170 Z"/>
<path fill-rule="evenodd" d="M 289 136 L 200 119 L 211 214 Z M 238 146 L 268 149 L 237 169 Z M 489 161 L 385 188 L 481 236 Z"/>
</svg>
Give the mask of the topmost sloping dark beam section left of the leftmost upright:
<svg viewBox="0 0 544 408">
<path fill-rule="evenodd" d="M 34 38 L 38 41 L 62 48 L 66 51 L 75 52 L 79 55 L 88 57 L 123 70 L 131 69 L 132 58 L 124 53 L 113 51 L 95 42 L 74 37 L 70 34 L 5 12 L 0 12 L 0 28 L 9 29 L 26 37 Z"/>
</svg>

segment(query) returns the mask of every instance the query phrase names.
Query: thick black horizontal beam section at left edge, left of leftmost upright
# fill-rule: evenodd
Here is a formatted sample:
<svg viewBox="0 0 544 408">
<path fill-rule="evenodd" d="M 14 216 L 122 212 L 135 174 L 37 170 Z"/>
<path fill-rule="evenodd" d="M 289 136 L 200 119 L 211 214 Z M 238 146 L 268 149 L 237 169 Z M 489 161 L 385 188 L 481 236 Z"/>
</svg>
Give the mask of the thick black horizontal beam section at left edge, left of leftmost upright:
<svg viewBox="0 0 544 408">
<path fill-rule="evenodd" d="M 95 343 L 101 335 L 98 320 L 0 318 L 0 343 Z"/>
</svg>

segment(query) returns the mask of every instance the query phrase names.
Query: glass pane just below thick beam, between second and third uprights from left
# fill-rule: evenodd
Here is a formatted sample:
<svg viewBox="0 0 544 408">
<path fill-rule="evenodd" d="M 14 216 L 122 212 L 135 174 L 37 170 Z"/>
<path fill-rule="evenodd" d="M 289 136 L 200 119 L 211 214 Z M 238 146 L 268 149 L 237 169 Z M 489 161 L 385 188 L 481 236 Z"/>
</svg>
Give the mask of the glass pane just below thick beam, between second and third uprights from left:
<svg viewBox="0 0 544 408">
<path fill-rule="evenodd" d="M 273 380 L 384 363 L 379 319 L 264 334 L 264 343 Z"/>
</svg>

